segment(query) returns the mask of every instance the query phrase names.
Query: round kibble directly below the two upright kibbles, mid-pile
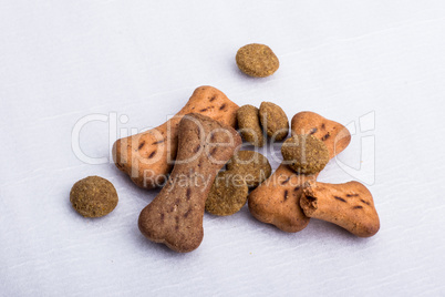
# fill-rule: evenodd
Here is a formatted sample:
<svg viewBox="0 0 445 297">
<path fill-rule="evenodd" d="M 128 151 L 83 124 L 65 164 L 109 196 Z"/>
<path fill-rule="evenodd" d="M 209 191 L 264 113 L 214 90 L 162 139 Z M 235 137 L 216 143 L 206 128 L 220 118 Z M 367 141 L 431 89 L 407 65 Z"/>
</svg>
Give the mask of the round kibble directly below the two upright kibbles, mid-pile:
<svg viewBox="0 0 445 297">
<path fill-rule="evenodd" d="M 227 170 L 239 175 L 249 187 L 258 186 L 272 173 L 267 157 L 253 151 L 238 151 L 227 163 Z"/>
</svg>

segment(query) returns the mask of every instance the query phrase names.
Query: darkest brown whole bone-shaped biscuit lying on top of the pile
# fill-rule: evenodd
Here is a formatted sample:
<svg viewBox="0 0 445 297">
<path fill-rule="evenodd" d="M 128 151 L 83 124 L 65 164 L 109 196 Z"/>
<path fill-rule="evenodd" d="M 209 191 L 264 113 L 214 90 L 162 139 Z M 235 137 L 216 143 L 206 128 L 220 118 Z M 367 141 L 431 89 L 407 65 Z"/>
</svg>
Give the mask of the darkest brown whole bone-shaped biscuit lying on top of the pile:
<svg viewBox="0 0 445 297">
<path fill-rule="evenodd" d="M 167 184 L 139 215 L 148 239 L 176 252 L 192 252 L 204 236 L 205 203 L 216 174 L 242 143 L 230 126 L 201 114 L 183 117 L 178 153 Z"/>
</svg>

